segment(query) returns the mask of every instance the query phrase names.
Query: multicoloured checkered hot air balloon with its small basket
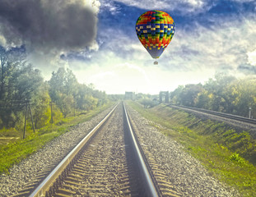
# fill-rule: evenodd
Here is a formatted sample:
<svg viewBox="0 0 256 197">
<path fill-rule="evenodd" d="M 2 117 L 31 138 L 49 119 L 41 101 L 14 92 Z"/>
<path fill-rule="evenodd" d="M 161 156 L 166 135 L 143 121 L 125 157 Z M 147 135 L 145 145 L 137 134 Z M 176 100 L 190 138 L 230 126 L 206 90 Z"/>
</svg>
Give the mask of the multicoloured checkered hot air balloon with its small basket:
<svg viewBox="0 0 256 197">
<path fill-rule="evenodd" d="M 138 17 L 136 33 L 151 57 L 159 58 L 175 34 L 175 21 L 164 11 L 147 11 Z"/>
</svg>

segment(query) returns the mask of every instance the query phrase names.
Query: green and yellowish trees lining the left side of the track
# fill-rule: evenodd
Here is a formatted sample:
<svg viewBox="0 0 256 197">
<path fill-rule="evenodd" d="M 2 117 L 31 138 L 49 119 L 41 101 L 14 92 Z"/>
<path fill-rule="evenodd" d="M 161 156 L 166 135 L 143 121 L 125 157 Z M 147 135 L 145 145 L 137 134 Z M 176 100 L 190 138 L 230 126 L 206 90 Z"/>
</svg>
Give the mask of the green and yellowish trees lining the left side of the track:
<svg viewBox="0 0 256 197">
<path fill-rule="evenodd" d="M 60 120 L 74 110 L 85 112 L 108 101 L 105 92 L 78 83 L 72 71 L 63 67 L 44 81 L 40 70 L 26 62 L 24 47 L 0 46 L 0 66 L 0 129 L 21 128 L 27 103 L 38 129 L 50 122 L 53 108 L 55 120 Z"/>
</svg>

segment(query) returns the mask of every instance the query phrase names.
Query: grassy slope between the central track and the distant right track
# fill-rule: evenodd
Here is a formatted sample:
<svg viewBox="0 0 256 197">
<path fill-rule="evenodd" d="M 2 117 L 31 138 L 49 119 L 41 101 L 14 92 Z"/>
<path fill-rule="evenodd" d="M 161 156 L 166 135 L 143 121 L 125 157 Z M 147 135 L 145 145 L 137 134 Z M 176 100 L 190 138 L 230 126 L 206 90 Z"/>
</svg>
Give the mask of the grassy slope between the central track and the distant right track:
<svg viewBox="0 0 256 197">
<path fill-rule="evenodd" d="M 239 190 L 242 196 L 256 196 L 256 140 L 249 131 L 202 120 L 165 104 L 149 109 L 135 102 L 128 104 L 153 121 L 151 126 L 183 144 L 212 176 Z"/>
</svg>

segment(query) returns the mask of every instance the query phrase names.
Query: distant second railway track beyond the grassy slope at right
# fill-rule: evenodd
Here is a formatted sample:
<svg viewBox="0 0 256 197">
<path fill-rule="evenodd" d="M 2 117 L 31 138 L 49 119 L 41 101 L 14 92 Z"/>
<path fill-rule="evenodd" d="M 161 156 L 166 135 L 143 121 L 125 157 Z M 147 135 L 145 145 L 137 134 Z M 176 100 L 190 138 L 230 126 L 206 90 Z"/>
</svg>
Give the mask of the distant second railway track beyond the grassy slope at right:
<svg viewBox="0 0 256 197">
<path fill-rule="evenodd" d="M 224 113 L 224 112 L 215 112 L 215 111 L 211 111 L 211 110 L 207 110 L 207 109 L 202 109 L 202 108 L 192 108 L 192 107 L 187 107 L 187 106 L 182 106 L 182 105 L 175 105 L 175 104 L 169 104 L 168 107 L 171 108 L 178 108 L 178 109 L 184 109 L 187 111 L 196 111 L 196 112 L 203 112 L 203 113 L 207 113 L 207 114 L 211 114 L 211 115 L 215 115 L 217 117 L 225 117 L 231 120 L 235 120 L 235 121 L 243 121 L 249 124 L 256 124 L 256 120 L 255 119 L 250 119 L 248 117 L 240 117 L 240 116 L 236 116 L 233 114 L 228 114 L 228 113 Z"/>
</svg>

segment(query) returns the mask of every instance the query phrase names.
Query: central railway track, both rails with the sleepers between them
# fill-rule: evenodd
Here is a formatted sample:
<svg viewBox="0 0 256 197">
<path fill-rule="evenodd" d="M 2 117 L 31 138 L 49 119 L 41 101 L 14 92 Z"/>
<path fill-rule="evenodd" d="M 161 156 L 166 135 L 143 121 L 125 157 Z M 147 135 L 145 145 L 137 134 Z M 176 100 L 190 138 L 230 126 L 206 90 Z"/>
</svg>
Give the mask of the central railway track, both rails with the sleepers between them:
<svg viewBox="0 0 256 197">
<path fill-rule="evenodd" d="M 116 117 L 123 118 L 117 119 Z M 123 127 L 123 135 L 120 134 L 120 127 Z M 119 141 L 123 141 L 123 144 L 119 144 Z M 102 153 L 100 146 L 103 146 L 107 152 Z M 113 155 L 109 152 L 113 152 Z M 111 174 L 110 179 L 105 177 L 106 173 Z M 111 184 L 115 186 L 112 187 Z M 123 106 L 116 105 L 68 153 L 67 157 L 54 168 L 54 171 L 49 173 L 49 176 L 30 194 L 30 197 L 100 194 L 104 196 L 162 196 L 150 165 L 133 132 L 133 126 L 124 104 Z"/>
</svg>

